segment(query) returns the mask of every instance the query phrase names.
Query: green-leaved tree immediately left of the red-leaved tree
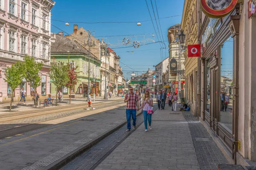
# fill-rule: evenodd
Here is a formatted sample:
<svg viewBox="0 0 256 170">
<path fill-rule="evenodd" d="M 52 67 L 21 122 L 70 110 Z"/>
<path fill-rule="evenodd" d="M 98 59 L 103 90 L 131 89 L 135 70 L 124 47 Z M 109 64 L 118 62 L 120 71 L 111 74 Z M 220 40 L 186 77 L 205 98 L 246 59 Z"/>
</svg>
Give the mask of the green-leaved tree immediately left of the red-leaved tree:
<svg viewBox="0 0 256 170">
<path fill-rule="evenodd" d="M 49 72 L 49 76 L 52 79 L 52 83 L 56 86 L 56 105 L 57 105 L 57 94 L 58 89 L 64 87 L 68 81 L 68 72 L 69 72 L 69 65 L 64 64 L 64 62 L 52 62 L 51 68 Z"/>
</svg>

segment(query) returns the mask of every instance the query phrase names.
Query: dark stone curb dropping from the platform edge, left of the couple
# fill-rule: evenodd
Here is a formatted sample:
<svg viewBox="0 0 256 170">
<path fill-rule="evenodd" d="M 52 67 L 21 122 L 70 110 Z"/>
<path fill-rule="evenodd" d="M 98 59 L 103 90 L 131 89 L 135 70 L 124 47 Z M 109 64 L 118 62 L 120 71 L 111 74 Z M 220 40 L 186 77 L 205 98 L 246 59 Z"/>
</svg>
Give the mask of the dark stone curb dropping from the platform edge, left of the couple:
<svg viewBox="0 0 256 170">
<path fill-rule="evenodd" d="M 140 111 L 140 113 L 137 113 L 136 116 L 140 116 L 141 114 L 142 114 L 142 110 Z M 46 165 L 46 166 L 41 165 L 40 166 L 40 163 L 38 165 L 36 165 L 36 162 L 45 160 L 45 158 L 42 158 L 42 159 L 36 161 L 34 164 L 24 167 L 22 170 L 32 170 L 32 169 L 33 170 L 59 170 L 60 168 L 64 167 L 66 164 L 68 164 L 70 161 L 72 161 L 73 159 L 80 156 L 82 153 L 84 153 L 85 151 L 89 150 L 91 147 L 93 147 L 94 145 L 96 145 L 97 143 L 102 141 L 102 139 L 106 138 L 107 136 L 111 135 L 113 132 L 115 132 L 122 126 L 124 126 L 126 124 L 126 122 L 127 122 L 126 120 L 122 121 L 121 123 L 119 123 L 119 125 L 111 128 L 106 133 L 103 133 L 103 134 L 97 136 L 96 138 L 94 138 L 93 140 L 91 140 L 90 142 L 87 142 L 87 144 L 84 144 L 81 147 L 78 147 L 75 150 L 72 150 L 71 152 L 65 154 L 60 159 L 57 159 L 56 161 L 50 163 L 49 165 Z M 45 164 L 47 164 L 47 162 L 45 162 Z"/>
</svg>

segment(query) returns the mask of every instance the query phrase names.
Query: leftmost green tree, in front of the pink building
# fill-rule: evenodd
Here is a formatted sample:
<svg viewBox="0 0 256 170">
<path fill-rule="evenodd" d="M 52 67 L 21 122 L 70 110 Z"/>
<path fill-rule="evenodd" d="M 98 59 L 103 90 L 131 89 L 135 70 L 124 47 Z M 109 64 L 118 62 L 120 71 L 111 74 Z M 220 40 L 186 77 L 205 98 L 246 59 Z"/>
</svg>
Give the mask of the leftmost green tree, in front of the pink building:
<svg viewBox="0 0 256 170">
<path fill-rule="evenodd" d="M 12 97 L 11 97 L 11 104 L 9 108 L 9 112 L 10 112 L 12 109 L 13 93 L 15 91 L 15 88 L 20 86 L 23 79 L 23 71 L 21 68 L 21 63 L 16 62 L 11 67 L 7 67 L 4 75 L 5 75 L 5 78 L 3 79 L 8 83 L 9 87 L 11 87 Z"/>
</svg>

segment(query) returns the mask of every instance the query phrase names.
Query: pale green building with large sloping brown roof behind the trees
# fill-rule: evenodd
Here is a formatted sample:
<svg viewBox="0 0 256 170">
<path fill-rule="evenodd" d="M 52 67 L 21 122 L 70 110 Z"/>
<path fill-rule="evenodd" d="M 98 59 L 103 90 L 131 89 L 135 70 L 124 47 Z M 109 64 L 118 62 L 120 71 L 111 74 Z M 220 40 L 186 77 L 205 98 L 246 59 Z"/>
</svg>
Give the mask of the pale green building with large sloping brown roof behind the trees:
<svg viewBox="0 0 256 170">
<path fill-rule="evenodd" d="M 100 89 L 100 65 L 101 61 L 89 52 L 79 43 L 71 41 L 63 36 L 63 34 L 51 34 L 51 60 L 69 62 L 73 66 L 77 66 L 78 82 L 74 88 L 71 89 L 71 98 L 87 97 L 88 77 L 90 72 L 90 87 L 91 92 L 99 96 Z M 89 67 L 90 60 L 90 67 Z M 69 97 L 70 89 L 56 89 L 55 85 L 51 83 L 51 94 L 56 95 L 56 91 L 63 91 L 63 96 Z"/>
</svg>

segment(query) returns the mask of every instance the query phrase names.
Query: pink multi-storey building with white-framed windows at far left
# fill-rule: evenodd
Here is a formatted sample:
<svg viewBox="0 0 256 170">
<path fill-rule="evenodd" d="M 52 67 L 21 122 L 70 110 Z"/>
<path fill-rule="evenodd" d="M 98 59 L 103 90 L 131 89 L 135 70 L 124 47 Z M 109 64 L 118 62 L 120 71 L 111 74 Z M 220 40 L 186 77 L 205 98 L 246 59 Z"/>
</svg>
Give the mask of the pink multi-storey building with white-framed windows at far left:
<svg viewBox="0 0 256 170">
<path fill-rule="evenodd" d="M 0 0 L 0 102 L 11 100 L 10 88 L 3 80 L 6 67 L 22 61 L 25 54 L 44 62 L 37 91 L 43 98 L 50 94 L 50 23 L 54 4 L 52 0 Z M 23 87 L 26 100 L 32 100 L 34 89 L 23 79 L 15 90 L 14 102 L 20 100 Z"/>
</svg>

